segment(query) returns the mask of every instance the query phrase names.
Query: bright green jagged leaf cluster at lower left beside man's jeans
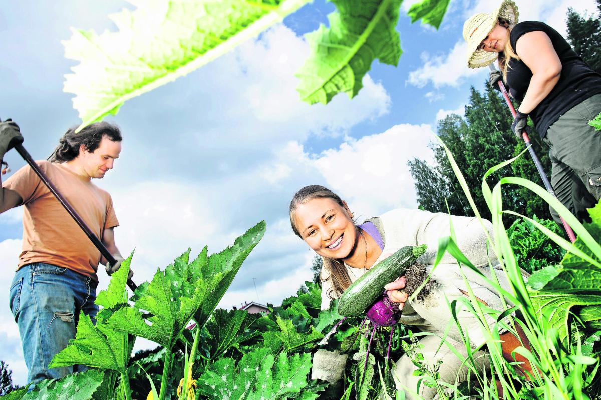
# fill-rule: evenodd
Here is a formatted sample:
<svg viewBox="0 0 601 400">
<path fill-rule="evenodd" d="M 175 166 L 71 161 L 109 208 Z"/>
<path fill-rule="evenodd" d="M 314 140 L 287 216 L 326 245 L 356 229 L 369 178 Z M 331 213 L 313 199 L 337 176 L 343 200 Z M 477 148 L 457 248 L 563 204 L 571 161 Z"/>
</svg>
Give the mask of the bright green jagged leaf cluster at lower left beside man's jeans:
<svg viewBox="0 0 601 400">
<path fill-rule="evenodd" d="M 160 399 L 165 399 L 172 389 L 168 387 L 168 378 L 173 348 L 178 340 L 185 340 L 183 330 L 194 317 L 197 333 L 201 332 L 243 261 L 264 233 L 265 222 L 260 222 L 237 238 L 233 246 L 210 257 L 204 248 L 192 262 L 188 250 L 164 271 L 157 270 L 153 280 L 140 285 L 128 301 L 126 281 L 132 253 L 113 274 L 107 290 L 97 296 L 96 304 L 102 309 L 96 325 L 81 314 L 75 339 L 56 354 L 49 365 L 50 368 L 85 365 L 93 369 L 59 381 L 44 381 L 34 391 L 23 392 L 26 393 L 23 398 L 90 399 L 94 396 L 95 399 L 132 399 L 130 354 L 133 341 L 139 336 L 164 348 Z M 242 321 L 233 324 L 238 329 L 242 327 Z M 200 335 L 197 334 L 196 345 L 198 339 Z M 195 350 L 192 345 L 193 353 Z M 222 350 L 216 348 L 215 351 Z M 115 374 L 120 382 L 117 389 L 114 387 Z M 16 396 L 16 393 L 10 396 Z"/>
</svg>

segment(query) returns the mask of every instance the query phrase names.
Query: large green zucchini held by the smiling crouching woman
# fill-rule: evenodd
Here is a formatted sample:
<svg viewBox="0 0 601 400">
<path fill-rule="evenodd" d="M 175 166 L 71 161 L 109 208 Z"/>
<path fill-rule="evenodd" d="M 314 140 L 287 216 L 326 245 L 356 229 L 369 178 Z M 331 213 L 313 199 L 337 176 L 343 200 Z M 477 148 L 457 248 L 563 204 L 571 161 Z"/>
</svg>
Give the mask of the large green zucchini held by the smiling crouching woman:
<svg viewBox="0 0 601 400">
<path fill-rule="evenodd" d="M 365 314 L 367 308 L 382 296 L 385 285 L 403 275 L 424 252 L 426 245 L 406 246 L 371 267 L 344 291 L 338 300 L 338 314 L 343 317 Z"/>
</svg>

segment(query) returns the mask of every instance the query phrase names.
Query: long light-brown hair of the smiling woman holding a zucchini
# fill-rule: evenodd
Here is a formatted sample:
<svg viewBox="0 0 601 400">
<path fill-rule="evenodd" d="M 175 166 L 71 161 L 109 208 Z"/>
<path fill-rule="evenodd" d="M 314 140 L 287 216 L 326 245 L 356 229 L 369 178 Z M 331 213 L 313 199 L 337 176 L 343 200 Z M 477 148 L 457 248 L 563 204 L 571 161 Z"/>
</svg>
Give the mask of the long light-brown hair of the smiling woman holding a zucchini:
<svg viewBox="0 0 601 400">
<path fill-rule="evenodd" d="M 331 190 L 319 185 L 311 185 L 302 188 L 294 194 L 292 201 L 290 201 L 290 225 L 292 225 L 292 230 L 296 236 L 302 239 L 301 233 L 296 227 L 296 221 L 294 218 L 294 213 L 299 205 L 307 203 L 307 201 L 313 199 L 332 199 L 339 206 L 344 207 L 343 201 L 337 194 L 332 193 Z M 349 273 L 347 273 L 346 266 L 340 260 L 335 260 L 334 258 L 322 257 L 323 261 L 323 269 L 328 272 L 328 275 L 325 279 L 323 275 L 320 273 L 320 280 L 322 282 L 332 281 L 332 288 L 328 291 L 327 296 L 328 299 L 335 299 L 337 297 L 342 296 L 342 293 L 346 288 L 348 288 L 351 284 Z M 336 297 L 334 297 L 334 294 Z"/>
</svg>

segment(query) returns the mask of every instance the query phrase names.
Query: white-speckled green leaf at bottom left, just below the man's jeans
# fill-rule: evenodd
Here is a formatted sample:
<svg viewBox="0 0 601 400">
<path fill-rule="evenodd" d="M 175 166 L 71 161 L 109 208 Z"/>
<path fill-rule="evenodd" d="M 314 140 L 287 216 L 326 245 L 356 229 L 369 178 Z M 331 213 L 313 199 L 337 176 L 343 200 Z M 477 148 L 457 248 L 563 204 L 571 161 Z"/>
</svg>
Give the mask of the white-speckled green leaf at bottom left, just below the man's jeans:
<svg viewBox="0 0 601 400">
<path fill-rule="evenodd" d="M 102 383 L 104 373 L 90 369 L 80 374 L 67 375 L 59 380 L 38 383 L 34 390 L 22 397 L 23 400 L 88 400 Z"/>
</svg>

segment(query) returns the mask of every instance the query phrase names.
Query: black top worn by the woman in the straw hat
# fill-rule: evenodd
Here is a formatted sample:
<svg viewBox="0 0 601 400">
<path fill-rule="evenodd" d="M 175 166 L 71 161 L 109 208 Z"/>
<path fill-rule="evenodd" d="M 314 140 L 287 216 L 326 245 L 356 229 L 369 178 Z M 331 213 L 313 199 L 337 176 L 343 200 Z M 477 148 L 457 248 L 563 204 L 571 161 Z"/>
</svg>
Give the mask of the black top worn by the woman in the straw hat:
<svg viewBox="0 0 601 400">
<path fill-rule="evenodd" d="M 587 98 L 601 93 L 601 75 L 591 70 L 555 29 L 542 22 L 528 21 L 517 24 L 510 33 L 511 47 L 515 50 L 517 40 L 523 34 L 534 31 L 545 32 L 561 61 L 560 80 L 545 100 L 530 113 L 536 130 L 541 137 L 545 137 L 549 127 L 564 113 Z M 516 100 L 523 100 L 531 79 L 532 71 L 526 64 L 511 59 L 507 70 L 507 85 Z"/>
</svg>

